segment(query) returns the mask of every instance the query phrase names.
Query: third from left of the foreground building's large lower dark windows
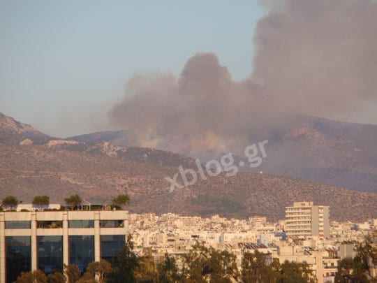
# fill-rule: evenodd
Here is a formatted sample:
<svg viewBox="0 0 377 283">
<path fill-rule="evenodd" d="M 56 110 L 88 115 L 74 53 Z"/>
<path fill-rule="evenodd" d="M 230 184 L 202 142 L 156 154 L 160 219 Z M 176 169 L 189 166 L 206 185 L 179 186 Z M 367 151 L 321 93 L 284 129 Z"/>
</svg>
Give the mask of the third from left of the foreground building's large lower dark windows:
<svg viewBox="0 0 377 283">
<path fill-rule="evenodd" d="M 94 235 L 69 236 L 69 263 L 83 272 L 94 261 Z"/>
</svg>

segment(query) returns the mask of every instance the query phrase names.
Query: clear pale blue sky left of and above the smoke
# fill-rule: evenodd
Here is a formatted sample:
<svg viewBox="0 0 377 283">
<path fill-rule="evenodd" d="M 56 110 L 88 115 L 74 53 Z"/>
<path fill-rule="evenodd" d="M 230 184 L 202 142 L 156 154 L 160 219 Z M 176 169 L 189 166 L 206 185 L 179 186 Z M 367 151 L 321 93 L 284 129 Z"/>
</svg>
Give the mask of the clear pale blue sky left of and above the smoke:
<svg viewBox="0 0 377 283">
<path fill-rule="evenodd" d="M 0 0 L 0 112 L 54 136 L 107 129 L 133 73 L 215 52 L 251 73 L 257 1 Z"/>
</svg>

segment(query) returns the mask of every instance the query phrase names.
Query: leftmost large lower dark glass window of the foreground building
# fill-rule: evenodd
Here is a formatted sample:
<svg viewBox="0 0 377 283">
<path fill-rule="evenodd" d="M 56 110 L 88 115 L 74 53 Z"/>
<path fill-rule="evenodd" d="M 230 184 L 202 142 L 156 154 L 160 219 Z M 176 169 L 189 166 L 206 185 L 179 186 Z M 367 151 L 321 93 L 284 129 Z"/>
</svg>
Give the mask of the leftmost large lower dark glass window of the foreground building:
<svg viewBox="0 0 377 283">
<path fill-rule="evenodd" d="M 22 271 L 31 270 L 31 237 L 6 237 L 6 282 L 15 282 Z"/>
</svg>

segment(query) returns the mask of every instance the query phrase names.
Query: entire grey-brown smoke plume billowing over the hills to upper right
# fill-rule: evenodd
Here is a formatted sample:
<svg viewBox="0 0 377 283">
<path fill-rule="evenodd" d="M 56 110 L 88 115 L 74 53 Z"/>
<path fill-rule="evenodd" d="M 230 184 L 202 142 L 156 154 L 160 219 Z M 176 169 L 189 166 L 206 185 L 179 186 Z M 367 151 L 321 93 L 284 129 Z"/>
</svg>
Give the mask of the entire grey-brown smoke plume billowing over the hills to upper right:
<svg viewBox="0 0 377 283">
<path fill-rule="evenodd" d="M 249 78 L 234 81 L 216 55 L 198 53 L 179 78 L 134 75 L 110 122 L 138 145 L 198 156 L 242 150 L 296 113 L 342 119 L 376 101 L 375 1 L 276 3 L 263 1 Z"/>
</svg>

